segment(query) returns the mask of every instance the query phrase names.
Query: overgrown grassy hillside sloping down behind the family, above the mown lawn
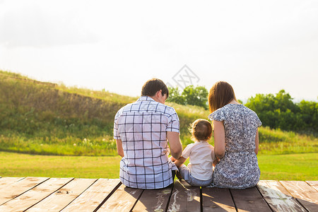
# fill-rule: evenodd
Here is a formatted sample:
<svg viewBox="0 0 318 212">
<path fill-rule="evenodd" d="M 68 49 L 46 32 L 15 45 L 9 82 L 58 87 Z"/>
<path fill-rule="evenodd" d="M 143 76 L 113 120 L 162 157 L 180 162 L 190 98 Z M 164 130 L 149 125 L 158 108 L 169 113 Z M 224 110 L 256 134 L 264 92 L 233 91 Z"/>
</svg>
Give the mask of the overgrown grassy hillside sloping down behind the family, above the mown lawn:
<svg viewBox="0 0 318 212">
<path fill-rule="evenodd" d="M 137 98 L 68 88 L 0 71 L 0 151 L 114 155 L 114 115 Z M 208 111 L 175 103 L 167 105 L 175 107 L 179 115 L 183 144 L 192 142 L 189 124 L 197 118 L 206 119 Z M 260 141 L 264 142 L 264 153 L 317 152 L 316 137 L 293 132 L 261 128 Z"/>
</svg>

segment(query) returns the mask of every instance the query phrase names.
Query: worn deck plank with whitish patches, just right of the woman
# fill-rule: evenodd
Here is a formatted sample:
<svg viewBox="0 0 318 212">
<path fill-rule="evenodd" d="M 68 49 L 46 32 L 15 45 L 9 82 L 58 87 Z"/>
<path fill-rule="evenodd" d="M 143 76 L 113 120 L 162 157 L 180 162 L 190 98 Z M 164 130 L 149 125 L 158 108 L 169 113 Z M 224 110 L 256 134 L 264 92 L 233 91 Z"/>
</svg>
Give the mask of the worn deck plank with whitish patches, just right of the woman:
<svg viewBox="0 0 318 212">
<path fill-rule="evenodd" d="M 273 211 L 306 211 L 276 180 L 261 180 L 257 188 Z"/>
</svg>

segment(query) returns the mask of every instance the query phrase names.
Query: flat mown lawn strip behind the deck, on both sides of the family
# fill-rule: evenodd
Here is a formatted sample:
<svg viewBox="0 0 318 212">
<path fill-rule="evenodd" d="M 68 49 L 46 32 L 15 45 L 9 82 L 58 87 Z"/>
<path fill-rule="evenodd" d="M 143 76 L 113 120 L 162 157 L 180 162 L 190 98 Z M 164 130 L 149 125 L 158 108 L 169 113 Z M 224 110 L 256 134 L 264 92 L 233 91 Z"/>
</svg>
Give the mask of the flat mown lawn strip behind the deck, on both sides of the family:
<svg viewBox="0 0 318 212">
<path fill-rule="evenodd" d="M 259 155 L 261 179 L 318 180 L 318 154 Z M 119 156 L 54 156 L 0 152 L 2 177 L 119 178 Z"/>
</svg>

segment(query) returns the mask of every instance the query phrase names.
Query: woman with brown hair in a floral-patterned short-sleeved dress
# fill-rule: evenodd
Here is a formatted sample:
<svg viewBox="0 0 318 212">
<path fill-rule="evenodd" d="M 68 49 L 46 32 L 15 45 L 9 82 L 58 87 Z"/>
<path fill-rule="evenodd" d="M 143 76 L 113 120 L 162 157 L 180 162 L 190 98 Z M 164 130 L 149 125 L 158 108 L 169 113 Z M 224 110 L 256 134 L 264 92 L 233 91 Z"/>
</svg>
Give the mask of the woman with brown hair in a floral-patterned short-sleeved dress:
<svg viewBox="0 0 318 212">
<path fill-rule="evenodd" d="M 213 121 L 214 152 L 219 159 L 213 173 L 212 186 L 246 189 L 259 182 L 257 114 L 241 105 L 229 83 L 219 81 L 208 94 Z"/>
</svg>

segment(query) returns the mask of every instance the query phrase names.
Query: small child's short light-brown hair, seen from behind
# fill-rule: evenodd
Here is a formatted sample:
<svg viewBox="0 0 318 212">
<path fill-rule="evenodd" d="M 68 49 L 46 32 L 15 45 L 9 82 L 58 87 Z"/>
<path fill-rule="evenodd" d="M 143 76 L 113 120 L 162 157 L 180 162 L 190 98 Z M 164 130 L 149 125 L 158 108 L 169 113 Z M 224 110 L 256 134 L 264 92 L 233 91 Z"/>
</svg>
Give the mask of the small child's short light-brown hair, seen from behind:
<svg viewBox="0 0 318 212">
<path fill-rule="evenodd" d="M 211 139 L 212 126 L 206 119 L 196 119 L 191 124 L 192 139 L 195 141 L 208 141 Z"/>
</svg>

